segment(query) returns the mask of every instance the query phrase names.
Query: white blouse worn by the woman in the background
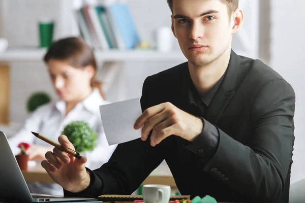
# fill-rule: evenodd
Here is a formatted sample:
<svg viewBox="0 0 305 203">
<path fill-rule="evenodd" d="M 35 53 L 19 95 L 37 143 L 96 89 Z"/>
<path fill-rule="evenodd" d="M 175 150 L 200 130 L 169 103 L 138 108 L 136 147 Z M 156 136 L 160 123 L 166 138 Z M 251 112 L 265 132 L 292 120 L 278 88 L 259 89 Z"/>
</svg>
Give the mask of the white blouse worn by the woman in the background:
<svg viewBox="0 0 305 203">
<path fill-rule="evenodd" d="M 36 138 L 31 131 L 38 132 L 58 143 L 58 137 L 62 134 L 61 132 L 67 124 L 72 121 L 85 121 L 98 133 L 96 148 L 92 152 L 87 152 L 85 156 L 90 165 L 101 166 L 109 160 L 116 148 L 116 145 L 108 145 L 103 130 L 99 106 L 105 104 L 109 104 L 109 102 L 103 99 L 98 89 L 94 89 L 67 116 L 65 116 L 66 103 L 62 100 L 39 107 L 25 121 L 23 128 L 15 136 L 9 138 L 13 153 L 16 155 L 20 152 L 20 149 L 17 147 L 20 142 L 50 146 L 50 144 Z"/>
</svg>

